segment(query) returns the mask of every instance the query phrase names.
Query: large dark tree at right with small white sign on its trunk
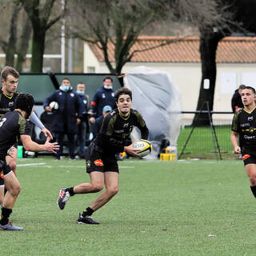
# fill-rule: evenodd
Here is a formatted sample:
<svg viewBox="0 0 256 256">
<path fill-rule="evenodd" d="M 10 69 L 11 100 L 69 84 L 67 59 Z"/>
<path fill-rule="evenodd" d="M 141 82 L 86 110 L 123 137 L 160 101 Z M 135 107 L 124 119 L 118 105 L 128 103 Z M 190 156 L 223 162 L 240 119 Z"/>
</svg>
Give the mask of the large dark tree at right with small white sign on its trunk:
<svg viewBox="0 0 256 256">
<path fill-rule="evenodd" d="M 204 23 L 198 23 L 200 31 L 202 79 L 197 110 L 207 110 L 206 102 L 209 103 L 209 110 L 214 109 L 214 91 L 217 74 L 216 52 L 218 42 L 220 42 L 222 38 L 232 34 L 232 32 L 239 31 L 246 33 L 248 29 L 252 30 L 255 27 L 255 24 L 252 26 L 252 23 L 255 23 L 252 22 L 254 20 L 252 16 L 256 9 L 256 2 L 250 1 L 250 5 L 248 5 L 248 2 L 245 3 L 240 0 L 215 0 L 214 2 L 216 3 L 215 8 L 218 10 L 218 15 L 214 17 L 212 24 L 209 23 L 204 26 Z M 248 25 L 250 25 L 251 28 Z M 205 79 L 209 79 L 210 81 L 209 89 L 204 89 Z M 199 126 L 209 124 L 207 114 L 200 114 L 200 116 L 195 115 L 194 124 L 196 118 L 198 118 L 197 125 Z"/>
</svg>

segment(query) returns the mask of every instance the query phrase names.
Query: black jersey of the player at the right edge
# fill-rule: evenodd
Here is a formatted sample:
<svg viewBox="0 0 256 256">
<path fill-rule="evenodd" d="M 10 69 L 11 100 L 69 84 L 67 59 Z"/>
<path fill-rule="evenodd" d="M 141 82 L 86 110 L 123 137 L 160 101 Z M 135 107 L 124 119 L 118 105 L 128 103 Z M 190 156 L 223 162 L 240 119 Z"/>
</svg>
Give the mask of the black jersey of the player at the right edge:
<svg viewBox="0 0 256 256">
<path fill-rule="evenodd" d="M 242 109 L 234 114 L 231 130 L 239 134 L 242 152 L 256 152 L 256 107 L 251 112 Z"/>
</svg>

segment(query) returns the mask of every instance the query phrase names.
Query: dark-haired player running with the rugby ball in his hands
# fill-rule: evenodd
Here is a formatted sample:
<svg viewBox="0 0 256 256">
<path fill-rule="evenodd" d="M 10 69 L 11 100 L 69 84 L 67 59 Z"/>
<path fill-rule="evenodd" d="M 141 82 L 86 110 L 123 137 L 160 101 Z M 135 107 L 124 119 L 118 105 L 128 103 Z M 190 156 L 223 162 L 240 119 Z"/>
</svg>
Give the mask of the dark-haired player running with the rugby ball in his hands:
<svg viewBox="0 0 256 256">
<path fill-rule="evenodd" d="M 126 151 L 128 154 L 140 157 L 136 154 L 133 144 L 125 146 L 125 140 L 134 126 L 141 130 L 142 138 L 147 139 L 149 134 L 142 115 L 130 108 L 131 91 L 127 88 L 117 90 L 114 98 L 118 108 L 104 117 L 100 133 L 86 151 L 86 171 L 90 174 L 90 183 L 84 182 L 78 186 L 60 190 L 57 203 L 59 209 L 63 210 L 70 196 L 96 193 L 101 191 L 104 185 L 106 186 L 106 190 L 99 194 L 82 214 L 79 214 L 78 224 L 99 224 L 91 218 L 91 215 L 118 193 L 119 170 L 115 154 Z"/>
</svg>

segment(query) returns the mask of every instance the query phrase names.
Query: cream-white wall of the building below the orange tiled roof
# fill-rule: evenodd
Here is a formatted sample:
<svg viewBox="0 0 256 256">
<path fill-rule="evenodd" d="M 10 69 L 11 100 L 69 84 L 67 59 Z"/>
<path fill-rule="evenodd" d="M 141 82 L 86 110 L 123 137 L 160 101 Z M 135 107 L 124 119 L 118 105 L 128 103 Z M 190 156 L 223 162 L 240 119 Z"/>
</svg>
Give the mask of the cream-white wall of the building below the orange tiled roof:
<svg viewBox="0 0 256 256">
<path fill-rule="evenodd" d="M 86 44 L 85 44 L 86 45 Z M 87 66 L 95 66 L 96 73 L 109 73 L 105 63 L 99 63 L 94 54 L 86 49 L 84 70 Z M 93 55 L 93 56 L 91 56 Z M 96 61 L 95 61 L 96 59 Z M 198 103 L 198 94 L 201 83 L 201 63 L 134 63 L 129 62 L 122 68 L 122 73 L 128 73 L 137 66 L 147 66 L 150 68 L 166 71 L 170 74 L 172 82 L 178 86 L 182 93 L 182 105 L 184 111 L 194 111 Z M 255 80 L 255 83 L 254 83 Z M 218 64 L 216 86 L 214 92 L 214 111 L 232 111 L 231 98 L 234 90 L 239 85 L 255 85 L 256 89 L 256 63 L 255 64 Z M 190 114 L 184 118 L 190 118 Z M 231 120 L 233 114 L 214 115 L 214 118 Z M 193 117 L 192 117 L 193 118 Z"/>
</svg>

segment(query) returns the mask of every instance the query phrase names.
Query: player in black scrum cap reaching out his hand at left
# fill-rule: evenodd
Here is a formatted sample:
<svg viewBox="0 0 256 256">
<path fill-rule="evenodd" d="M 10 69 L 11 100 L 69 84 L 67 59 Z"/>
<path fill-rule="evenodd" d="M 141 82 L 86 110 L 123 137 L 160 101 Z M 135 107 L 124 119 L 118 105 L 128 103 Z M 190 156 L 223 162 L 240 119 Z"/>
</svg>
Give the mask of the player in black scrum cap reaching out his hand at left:
<svg viewBox="0 0 256 256">
<path fill-rule="evenodd" d="M 22 140 L 26 150 L 30 151 L 49 151 L 55 153 L 58 150 L 58 143 L 50 143 L 47 137 L 46 143 L 39 145 L 33 142 L 30 137 L 30 126 L 27 118 L 34 109 L 34 98 L 30 94 L 19 94 L 15 99 L 15 110 L 10 111 L 0 118 L 0 169 L 3 171 L 3 178 L 7 192 L 2 202 L 2 215 L 0 218 L 0 230 L 23 230 L 22 227 L 13 226 L 9 222 L 14 203 L 21 190 L 18 178 L 6 163 L 6 155 L 11 145 Z"/>
</svg>

